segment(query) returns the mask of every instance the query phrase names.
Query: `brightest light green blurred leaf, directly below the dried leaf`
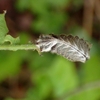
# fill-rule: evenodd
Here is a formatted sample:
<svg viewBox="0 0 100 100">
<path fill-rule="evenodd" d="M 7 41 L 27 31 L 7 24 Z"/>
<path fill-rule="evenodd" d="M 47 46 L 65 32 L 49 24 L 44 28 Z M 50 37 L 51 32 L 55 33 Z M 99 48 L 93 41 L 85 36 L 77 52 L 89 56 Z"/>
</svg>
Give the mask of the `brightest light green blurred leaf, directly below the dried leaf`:
<svg viewBox="0 0 100 100">
<path fill-rule="evenodd" d="M 50 80 L 56 97 L 62 96 L 69 90 L 77 87 L 78 76 L 74 63 L 57 57 L 49 70 Z"/>
</svg>

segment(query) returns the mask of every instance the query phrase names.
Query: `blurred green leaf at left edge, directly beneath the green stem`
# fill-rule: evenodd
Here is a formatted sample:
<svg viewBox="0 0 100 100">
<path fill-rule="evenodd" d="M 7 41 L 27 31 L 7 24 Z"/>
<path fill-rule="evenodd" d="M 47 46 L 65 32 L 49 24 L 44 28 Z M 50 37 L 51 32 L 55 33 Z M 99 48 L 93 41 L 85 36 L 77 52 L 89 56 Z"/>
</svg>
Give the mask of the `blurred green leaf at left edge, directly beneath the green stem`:
<svg viewBox="0 0 100 100">
<path fill-rule="evenodd" d="M 9 76 L 13 76 L 20 70 L 23 51 L 1 51 L 0 52 L 0 82 Z"/>
</svg>

